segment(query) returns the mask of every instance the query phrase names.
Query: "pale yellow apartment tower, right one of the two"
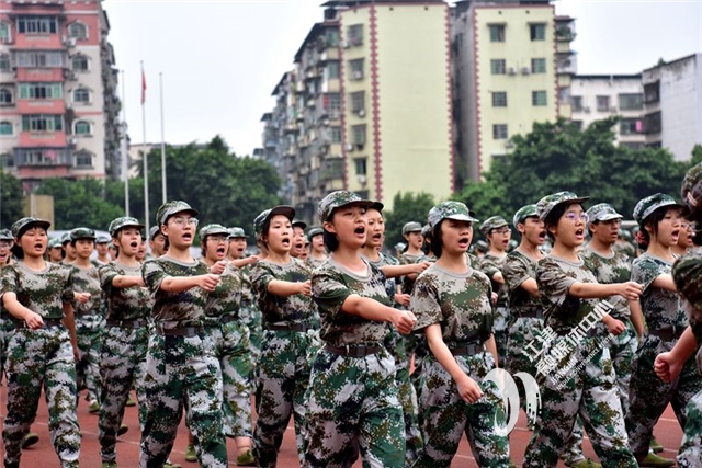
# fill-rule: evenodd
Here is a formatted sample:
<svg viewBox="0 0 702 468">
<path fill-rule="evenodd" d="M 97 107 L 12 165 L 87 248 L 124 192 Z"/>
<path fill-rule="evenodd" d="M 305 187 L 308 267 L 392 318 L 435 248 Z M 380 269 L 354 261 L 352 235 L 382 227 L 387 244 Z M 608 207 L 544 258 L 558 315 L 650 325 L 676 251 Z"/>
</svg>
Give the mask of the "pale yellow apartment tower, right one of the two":
<svg viewBox="0 0 702 468">
<path fill-rule="evenodd" d="M 463 183 L 479 180 L 534 122 L 570 117 L 575 20 L 556 16 L 548 0 L 460 1 L 451 35 Z"/>
</svg>

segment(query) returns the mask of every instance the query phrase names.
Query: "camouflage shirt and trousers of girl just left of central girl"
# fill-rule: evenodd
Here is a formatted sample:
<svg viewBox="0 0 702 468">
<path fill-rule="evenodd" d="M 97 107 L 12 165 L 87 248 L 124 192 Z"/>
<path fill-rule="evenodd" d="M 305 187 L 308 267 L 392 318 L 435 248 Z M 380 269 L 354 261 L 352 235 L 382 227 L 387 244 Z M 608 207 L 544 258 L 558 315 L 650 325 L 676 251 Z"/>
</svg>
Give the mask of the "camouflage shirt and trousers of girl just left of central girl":
<svg viewBox="0 0 702 468">
<path fill-rule="evenodd" d="M 287 265 L 261 260 L 251 269 L 251 283 L 263 316 L 264 331 L 257 369 L 253 455 L 261 467 L 275 466 L 291 415 L 294 414 L 297 452 L 304 457 L 305 392 L 318 349 L 319 317 L 309 297 L 281 297 L 269 293 L 271 281 L 306 282 L 309 266 L 291 258 Z"/>
</svg>

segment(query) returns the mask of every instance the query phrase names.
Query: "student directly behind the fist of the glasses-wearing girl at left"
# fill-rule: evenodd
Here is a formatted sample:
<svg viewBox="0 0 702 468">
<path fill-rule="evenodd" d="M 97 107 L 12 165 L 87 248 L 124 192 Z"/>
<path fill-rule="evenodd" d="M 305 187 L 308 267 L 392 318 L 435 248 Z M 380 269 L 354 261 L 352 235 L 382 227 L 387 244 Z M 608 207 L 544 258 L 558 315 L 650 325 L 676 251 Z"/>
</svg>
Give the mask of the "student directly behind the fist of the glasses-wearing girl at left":
<svg viewBox="0 0 702 468">
<path fill-rule="evenodd" d="M 241 271 L 226 261 L 229 230 L 222 225 L 200 229 L 203 262 L 222 281 L 207 295 L 205 316 L 222 367 L 224 433 L 237 445 L 237 465 L 256 465 L 251 453 L 251 353 L 249 329 L 241 321 Z"/>
</svg>

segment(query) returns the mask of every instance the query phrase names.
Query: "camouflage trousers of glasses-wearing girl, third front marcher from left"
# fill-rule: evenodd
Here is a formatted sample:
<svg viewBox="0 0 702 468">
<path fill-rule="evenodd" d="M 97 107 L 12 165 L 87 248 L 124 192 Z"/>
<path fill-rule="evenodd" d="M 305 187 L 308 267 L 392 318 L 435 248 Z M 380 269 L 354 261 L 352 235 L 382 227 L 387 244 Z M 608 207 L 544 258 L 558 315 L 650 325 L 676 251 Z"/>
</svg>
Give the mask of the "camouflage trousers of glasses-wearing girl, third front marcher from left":
<svg viewBox="0 0 702 468">
<path fill-rule="evenodd" d="M 202 467 L 227 466 L 222 426 L 222 372 L 210 336 L 149 336 L 146 355 L 147 418 L 141 432 L 140 468 L 161 468 L 183 408 Z"/>
</svg>

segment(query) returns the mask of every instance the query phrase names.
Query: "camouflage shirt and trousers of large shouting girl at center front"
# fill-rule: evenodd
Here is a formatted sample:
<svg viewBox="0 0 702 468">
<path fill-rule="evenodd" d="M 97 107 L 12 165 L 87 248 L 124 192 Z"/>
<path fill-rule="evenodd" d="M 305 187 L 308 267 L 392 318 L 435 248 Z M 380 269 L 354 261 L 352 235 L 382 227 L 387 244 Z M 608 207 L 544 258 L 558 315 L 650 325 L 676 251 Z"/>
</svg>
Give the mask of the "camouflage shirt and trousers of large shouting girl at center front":
<svg viewBox="0 0 702 468">
<path fill-rule="evenodd" d="M 328 195 L 331 196 L 331 195 Z M 359 276 L 329 259 L 315 270 L 313 296 L 326 343 L 313 365 L 304 467 L 405 466 L 405 424 L 386 324 L 341 310 L 352 294 L 390 306 L 385 275 L 369 264 Z"/>
</svg>

